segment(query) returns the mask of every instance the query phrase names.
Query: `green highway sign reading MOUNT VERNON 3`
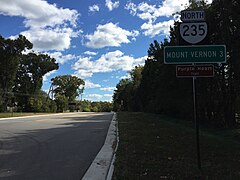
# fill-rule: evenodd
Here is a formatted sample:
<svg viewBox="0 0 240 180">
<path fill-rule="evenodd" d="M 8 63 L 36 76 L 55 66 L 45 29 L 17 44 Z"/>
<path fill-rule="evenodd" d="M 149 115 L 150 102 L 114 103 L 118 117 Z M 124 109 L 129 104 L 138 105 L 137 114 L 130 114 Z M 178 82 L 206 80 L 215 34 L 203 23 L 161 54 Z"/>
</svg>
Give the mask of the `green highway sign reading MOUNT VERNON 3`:
<svg viewBox="0 0 240 180">
<path fill-rule="evenodd" d="M 225 45 L 166 46 L 165 64 L 225 63 Z"/>
</svg>

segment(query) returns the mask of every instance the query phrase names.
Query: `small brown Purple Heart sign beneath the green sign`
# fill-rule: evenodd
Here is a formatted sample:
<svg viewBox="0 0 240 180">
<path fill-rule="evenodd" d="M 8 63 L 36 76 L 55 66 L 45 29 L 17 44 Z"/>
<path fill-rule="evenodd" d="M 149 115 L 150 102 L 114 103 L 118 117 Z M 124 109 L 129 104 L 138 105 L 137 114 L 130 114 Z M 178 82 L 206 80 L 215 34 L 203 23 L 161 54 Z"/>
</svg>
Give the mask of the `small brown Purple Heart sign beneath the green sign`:
<svg viewBox="0 0 240 180">
<path fill-rule="evenodd" d="M 213 65 L 179 65 L 176 66 L 177 77 L 213 77 Z"/>
</svg>

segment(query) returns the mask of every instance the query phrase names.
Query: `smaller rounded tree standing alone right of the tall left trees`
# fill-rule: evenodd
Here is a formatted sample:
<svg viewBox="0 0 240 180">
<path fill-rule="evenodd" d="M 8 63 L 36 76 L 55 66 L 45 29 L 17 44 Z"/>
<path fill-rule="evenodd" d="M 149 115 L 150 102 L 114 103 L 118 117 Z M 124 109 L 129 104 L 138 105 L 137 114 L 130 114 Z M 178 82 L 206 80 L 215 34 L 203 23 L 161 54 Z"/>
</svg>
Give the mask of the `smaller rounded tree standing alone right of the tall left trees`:
<svg viewBox="0 0 240 180">
<path fill-rule="evenodd" d="M 80 86 L 85 84 L 82 79 L 71 75 L 57 76 L 51 81 L 55 96 L 65 96 L 68 102 L 74 101 L 80 95 Z"/>
</svg>

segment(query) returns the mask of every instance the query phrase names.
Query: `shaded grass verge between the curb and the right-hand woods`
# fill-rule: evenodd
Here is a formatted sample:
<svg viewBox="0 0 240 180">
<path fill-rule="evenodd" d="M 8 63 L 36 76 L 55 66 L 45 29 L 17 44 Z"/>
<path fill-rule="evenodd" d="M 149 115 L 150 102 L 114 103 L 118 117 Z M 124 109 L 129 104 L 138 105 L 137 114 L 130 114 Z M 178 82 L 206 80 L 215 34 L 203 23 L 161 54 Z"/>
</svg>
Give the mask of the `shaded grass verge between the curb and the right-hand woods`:
<svg viewBox="0 0 240 180">
<path fill-rule="evenodd" d="M 114 180 L 240 179 L 237 131 L 200 129 L 200 171 L 191 122 L 125 112 L 118 113 L 117 119 L 120 142 Z"/>
</svg>

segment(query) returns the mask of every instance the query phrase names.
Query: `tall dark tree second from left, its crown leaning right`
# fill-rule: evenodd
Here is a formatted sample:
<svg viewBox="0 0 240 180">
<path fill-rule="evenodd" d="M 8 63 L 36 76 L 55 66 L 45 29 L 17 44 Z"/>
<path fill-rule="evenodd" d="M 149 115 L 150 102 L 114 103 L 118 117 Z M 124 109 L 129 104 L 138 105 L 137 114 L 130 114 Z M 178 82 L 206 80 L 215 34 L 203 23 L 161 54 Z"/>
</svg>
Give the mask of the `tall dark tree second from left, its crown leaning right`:
<svg viewBox="0 0 240 180">
<path fill-rule="evenodd" d="M 29 98 L 40 95 L 43 76 L 58 67 L 56 60 L 47 54 L 29 53 L 21 56 L 13 91 L 23 110 L 32 111 Z"/>
</svg>

